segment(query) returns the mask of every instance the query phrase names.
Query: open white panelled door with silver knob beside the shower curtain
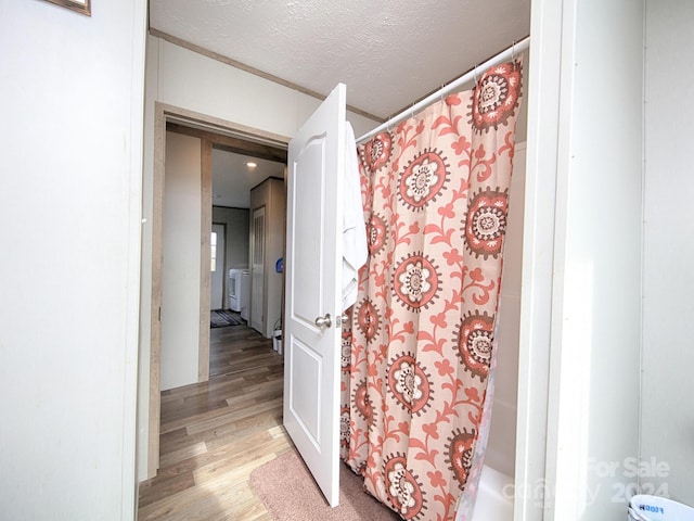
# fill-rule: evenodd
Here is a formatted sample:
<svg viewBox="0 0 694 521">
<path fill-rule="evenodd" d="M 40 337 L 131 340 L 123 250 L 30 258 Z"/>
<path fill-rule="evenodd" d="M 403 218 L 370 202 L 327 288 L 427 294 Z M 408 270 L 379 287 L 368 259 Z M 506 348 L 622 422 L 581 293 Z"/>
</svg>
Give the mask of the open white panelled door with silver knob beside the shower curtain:
<svg viewBox="0 0 694 521">
<path fill-rule="evenodd" d="M 342 179 L 339 84 L 290 143 L 284 427 L 327 503 L 339 501 Z"/>
</svg>

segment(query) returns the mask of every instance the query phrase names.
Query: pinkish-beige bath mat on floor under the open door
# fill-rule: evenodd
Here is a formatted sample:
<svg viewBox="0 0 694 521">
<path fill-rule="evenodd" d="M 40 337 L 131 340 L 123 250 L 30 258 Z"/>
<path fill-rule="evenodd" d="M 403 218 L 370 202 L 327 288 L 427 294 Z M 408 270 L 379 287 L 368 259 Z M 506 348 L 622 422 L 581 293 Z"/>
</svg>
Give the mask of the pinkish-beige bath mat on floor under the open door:
<svg viewBox="0 0 694 521">
<path fill-rule="evenodd" d="M 363 492 L 363 480 L 339 463 L 339 506 L 330 508 L 295 450 L 250 474 L 250 486 L 275 521 L 399 520 L 388 507 Z"/>
</svg>

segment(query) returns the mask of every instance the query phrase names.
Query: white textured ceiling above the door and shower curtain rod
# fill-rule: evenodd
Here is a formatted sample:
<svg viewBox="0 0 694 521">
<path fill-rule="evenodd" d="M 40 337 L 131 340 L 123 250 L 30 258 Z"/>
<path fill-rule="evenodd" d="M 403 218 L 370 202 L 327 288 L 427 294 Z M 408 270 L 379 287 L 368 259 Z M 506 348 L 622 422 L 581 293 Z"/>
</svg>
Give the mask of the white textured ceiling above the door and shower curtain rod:
<svg viewBox="0 0 694 521">
<path fill-rule="evenodd" d="M 383 118 L 530 33 L 530 0 L 150 0 L 150 26 Z"/>
</svg>

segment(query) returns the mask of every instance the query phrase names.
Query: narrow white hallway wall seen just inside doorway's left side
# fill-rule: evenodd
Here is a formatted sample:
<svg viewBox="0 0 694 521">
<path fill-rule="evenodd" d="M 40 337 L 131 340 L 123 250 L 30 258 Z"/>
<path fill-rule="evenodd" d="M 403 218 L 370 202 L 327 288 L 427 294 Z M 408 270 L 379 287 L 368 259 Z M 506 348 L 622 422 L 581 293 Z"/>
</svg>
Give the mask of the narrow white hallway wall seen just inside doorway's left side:
<svg viewBox="0 0 694 521">
<path fill-rule="evenodd" d="M 160 389 L 198 381 L 201 140 L 166 132 Z"/>
</svg>

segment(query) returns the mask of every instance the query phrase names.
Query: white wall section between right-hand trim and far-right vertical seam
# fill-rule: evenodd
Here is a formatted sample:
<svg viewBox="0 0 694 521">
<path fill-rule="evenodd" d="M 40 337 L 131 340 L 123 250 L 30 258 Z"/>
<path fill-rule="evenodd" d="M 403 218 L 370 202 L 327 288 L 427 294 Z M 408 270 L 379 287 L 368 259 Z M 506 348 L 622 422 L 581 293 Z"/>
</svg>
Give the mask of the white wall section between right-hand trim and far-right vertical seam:
<svg viewBox="0 0 694 521">
<path fill-rule="evenodd" d="M 639 446 L 643 11 L 632 0 L 575 9 L 562 56 L 554 512 L 600 521 L 624 516 L 627 499 L 621 469 L 602 465 Z"/>
</svg>

